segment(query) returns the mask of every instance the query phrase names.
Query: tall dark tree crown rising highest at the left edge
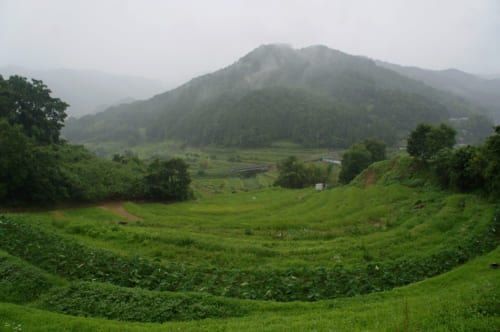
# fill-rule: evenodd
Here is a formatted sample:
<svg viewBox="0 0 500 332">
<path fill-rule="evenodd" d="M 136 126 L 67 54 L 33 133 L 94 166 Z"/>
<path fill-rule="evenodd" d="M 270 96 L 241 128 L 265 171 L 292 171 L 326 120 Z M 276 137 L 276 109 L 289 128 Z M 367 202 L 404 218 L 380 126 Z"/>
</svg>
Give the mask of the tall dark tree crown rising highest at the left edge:
<svg viewBox="0 0 500 332">
<path fill-rule="evenodd" d="M 26 136 L 38 144 L 57 143 L 66 118 L 68 104 L 50 96 L 40 80 L 0 76 L 0 118 L 20 125 Z"/>
</svg>

